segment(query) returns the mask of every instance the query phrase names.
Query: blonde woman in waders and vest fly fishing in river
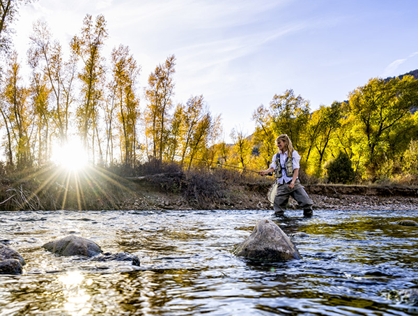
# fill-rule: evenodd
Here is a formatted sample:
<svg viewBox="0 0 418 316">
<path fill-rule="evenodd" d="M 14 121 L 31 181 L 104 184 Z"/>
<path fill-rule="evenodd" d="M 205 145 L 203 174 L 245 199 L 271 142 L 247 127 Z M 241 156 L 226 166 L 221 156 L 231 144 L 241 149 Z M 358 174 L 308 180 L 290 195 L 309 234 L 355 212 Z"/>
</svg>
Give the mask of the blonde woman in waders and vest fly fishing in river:
<svg viewBox="0 0 418 316">
<path fill-rule="evenodd" d="M 279 152 L 274 154 L 270 168 L 258 172 L 262 176 L 274 172 L 279 184 L 273 203 L 274 215 L 284 216 L 284 211 L 291 196 L 302 207 L 304 217 L 311 217 L 314 213 L 312 211 L 314 202 L 309 198 L 299 179 L 297 179 L 300 169 L 300 155 L 293 149 L 292 141 L 286 134 L 281 134 L 276 138 L 276 145 L 279 147 Z"/>
</svg>

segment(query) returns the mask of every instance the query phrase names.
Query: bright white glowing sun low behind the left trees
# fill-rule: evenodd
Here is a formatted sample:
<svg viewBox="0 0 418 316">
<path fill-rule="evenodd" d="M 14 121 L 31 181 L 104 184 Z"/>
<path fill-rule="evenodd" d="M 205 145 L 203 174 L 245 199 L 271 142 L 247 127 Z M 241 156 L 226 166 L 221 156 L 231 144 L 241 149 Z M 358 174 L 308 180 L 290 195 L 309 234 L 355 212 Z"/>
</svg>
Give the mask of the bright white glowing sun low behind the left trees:
<svg viewBox="0 0 418 316">
<path fill-rule="evenodd" d="M 71 171 L 81 170 L 88 163 L 88 156 L 81 142 L 68 142 L 57 146 L 52 155 L 52 161 Z"/>
</svg>

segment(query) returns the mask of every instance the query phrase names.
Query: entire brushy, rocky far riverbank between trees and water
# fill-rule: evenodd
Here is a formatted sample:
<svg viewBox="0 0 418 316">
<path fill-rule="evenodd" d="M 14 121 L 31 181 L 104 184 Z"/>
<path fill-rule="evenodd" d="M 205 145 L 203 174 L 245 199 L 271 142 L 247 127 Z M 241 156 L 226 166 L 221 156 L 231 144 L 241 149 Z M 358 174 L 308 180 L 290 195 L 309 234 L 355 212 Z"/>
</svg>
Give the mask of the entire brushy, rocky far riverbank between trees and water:
<svg viewBox="0 0 418 316">
<path fill-rule="evenodd" d="M 0 210 L 272 209 L 272 179 L 222 172 L 162 172 L 117 176 L 91 169 L 68 180 L 54 170 L 19 181 L 0 181 Z M 53 179 L 51 181 L 51 179 Z M 49 181 L 49 182 L 48 182 Z M 418 188 L 305 185 L 314 209 L 418 210 Z M 294 200 L 289 209 L 297 209 Z"/>
</svg>

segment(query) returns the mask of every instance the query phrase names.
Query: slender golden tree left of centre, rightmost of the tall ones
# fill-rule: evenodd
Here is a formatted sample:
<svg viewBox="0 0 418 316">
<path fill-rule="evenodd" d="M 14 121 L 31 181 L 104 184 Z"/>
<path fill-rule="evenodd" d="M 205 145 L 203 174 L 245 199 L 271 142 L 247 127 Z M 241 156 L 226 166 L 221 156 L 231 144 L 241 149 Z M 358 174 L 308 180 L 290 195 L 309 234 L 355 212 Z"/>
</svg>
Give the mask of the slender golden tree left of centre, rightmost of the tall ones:
<svg viewBox="0 0 418 316">
<path fill-rule="evenodd" d="M 176 73 L 176 57 L 167 57 L 164 64 L 160 64 L 148 78 L 145 110 L 146 137 L 150 140 L 152 155 L 162 160 L 168 138 L 169 111 L 172 107 L 171 97 L 174 94 L 173 75 Z"/>
</svg>

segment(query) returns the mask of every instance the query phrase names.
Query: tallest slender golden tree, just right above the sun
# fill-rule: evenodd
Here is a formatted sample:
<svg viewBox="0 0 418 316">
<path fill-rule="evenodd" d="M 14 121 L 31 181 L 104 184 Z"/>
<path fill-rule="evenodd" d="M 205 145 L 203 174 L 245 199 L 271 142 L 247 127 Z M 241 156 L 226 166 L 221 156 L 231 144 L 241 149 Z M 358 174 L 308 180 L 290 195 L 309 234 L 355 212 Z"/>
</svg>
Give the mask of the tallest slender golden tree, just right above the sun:
<svg viewBox="0 0 418 316">
<path fill-rule="evenodd" d="M 88 140 L 91 136 L 94 162 L 96 139 L 102 157 L 98 133 L 98 106 L 102 102 L 103 95 L 105 70 L 101 50 L 107 38 L 107 29 L 103 15 L 96 17 L 94 25 L 91 15 L 86 15 L 83 24 L 81 35 L 72 38 L 71 48 L 83 63 L 82 71 L 79 73 L 82 82 L 82 100 L 77 108 L 79 134 L 86 149 L 89 148 Z"/>
</svg>

